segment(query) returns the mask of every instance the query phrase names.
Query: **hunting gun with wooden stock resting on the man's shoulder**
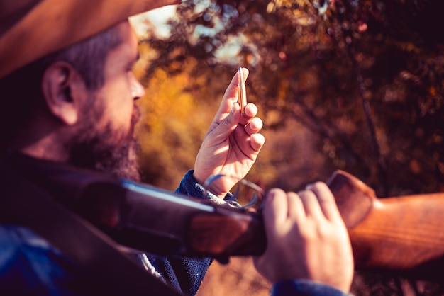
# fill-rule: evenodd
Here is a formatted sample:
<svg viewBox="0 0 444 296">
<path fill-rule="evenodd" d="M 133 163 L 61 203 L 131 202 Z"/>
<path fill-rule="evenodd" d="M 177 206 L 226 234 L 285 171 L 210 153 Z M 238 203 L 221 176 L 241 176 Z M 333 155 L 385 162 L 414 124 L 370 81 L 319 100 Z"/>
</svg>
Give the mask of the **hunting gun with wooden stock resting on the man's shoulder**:
<svg viewBox="0 0 444 296">
<path fill-rule="evenodd" d="M 64 197 L 61 203 L 131 249 L 226 259 L 266 248 L 260 212 L 65 166 L 47 166 L 40 178 Z M 348 228 L 356 270 L 443 280 L 444 193 L 378 199 L 344 171 L 335 171 L 328 186 Z"/>
</svg>

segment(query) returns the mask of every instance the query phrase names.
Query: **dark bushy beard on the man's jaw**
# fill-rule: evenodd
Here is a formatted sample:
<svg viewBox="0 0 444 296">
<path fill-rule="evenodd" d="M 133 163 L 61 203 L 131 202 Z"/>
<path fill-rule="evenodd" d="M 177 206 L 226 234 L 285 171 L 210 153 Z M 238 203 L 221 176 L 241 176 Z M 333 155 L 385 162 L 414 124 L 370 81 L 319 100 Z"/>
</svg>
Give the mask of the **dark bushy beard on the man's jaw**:
<svg viewBox="0 0 444 296">
<path fill-rule="evenodd" d="M 85 116 L 84 124 L 79 127 L 70 149 L 70 164 L 83 169 L 94 169 L 111 173 L 118 178 L 140 181 L 137 164 L 139 145 L 135 140 L 134 127 L 140 118 L 140 110 L 134 105 L 131 116 L 131 128 L 125 132 L 113 130 L 108 123 L 104 130 L 97 130 L 100 108 L 90 108 Z M 93 111 L 91 111 L 93 110 Z"/>
</svg>

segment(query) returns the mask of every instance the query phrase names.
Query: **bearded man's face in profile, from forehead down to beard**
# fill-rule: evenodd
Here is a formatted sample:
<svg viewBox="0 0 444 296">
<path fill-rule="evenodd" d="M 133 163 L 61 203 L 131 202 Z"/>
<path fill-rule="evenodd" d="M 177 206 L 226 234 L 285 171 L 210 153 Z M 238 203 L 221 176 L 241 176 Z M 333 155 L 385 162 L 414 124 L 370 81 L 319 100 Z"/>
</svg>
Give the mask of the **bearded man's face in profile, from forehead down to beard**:
<svg viewBox="0 0 444 296">
<path fill-rule="evenodd" d="M 90 94 L 92 103 L 80 115 L 70 162 L 138 181 L 134 125 L 139 111 L 135 100 L 145 91 L 132 71 L 139 56 L 137 38 L 128 22 L 118 28 L 122 43 L 108 53 L 104 85 Z"/>
</svg>

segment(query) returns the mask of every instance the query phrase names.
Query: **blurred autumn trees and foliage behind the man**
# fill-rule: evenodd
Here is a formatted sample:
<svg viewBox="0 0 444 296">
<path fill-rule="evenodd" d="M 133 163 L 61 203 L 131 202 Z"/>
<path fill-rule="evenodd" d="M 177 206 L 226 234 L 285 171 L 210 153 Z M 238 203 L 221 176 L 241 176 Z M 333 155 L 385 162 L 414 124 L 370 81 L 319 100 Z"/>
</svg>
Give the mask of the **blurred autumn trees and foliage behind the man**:
<svg viewBox="0 0 444 296">
<path fill-rule="evenodd" d="M 348 171 L 377 196 L 444 192 L 444 1 L 193 1 L 132 19 L 146 86 L 143 181 L 174 190 L 238 67 L 265 147 L 248 174 L 299 190 Z M 199 295 L 268 295 L 249 258 L 213 263 Z M 443 295 L 357 274 L 355 295 Z"/>
</svg>

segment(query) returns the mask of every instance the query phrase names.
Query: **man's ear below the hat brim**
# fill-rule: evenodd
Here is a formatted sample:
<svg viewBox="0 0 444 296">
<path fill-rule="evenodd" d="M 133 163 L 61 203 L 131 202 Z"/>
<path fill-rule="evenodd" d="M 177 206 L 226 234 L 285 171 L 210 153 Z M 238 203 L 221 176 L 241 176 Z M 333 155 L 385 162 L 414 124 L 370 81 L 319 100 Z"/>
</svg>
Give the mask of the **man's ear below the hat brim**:
<svg viewBox="0 0 444 296">
<path fill-rule="evenodd" d="M 54 62 L 43 73 L 43 98 L 50 112 L 66 125 L 77 123 L 88 98 L 82 77 L 67 62 Z"/>
</svg>

